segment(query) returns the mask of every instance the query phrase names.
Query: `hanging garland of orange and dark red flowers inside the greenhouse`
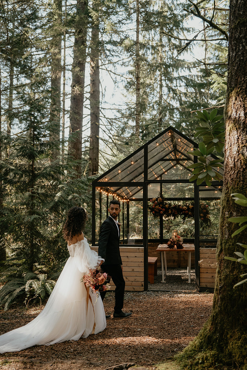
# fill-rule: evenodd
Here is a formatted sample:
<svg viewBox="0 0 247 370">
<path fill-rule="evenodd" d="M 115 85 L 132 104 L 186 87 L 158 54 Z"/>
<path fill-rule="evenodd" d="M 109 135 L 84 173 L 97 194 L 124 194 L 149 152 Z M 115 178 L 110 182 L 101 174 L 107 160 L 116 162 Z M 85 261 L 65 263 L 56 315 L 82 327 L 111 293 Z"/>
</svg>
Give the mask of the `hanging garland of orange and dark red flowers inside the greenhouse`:
<svg viewBox="0 0 247 370">
<path fill-rule="evenodd" d="M 200 220 L 204 223 L 210 223 L 209 209 L 206 203 L 200 203 L 199 214 Z M 165 219 L 182 217 L 183 220 L 186 218 L 194 218 L 194 203 L 184 204 L 172 204 L 164 201 L 164 198 L 158 197 L 150 199 L 150 205 L 148 206 L 150 213 L 154 218 L 163 216 Z"/>
</svg>

